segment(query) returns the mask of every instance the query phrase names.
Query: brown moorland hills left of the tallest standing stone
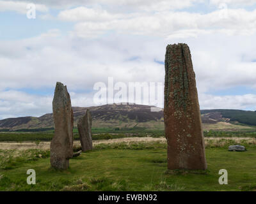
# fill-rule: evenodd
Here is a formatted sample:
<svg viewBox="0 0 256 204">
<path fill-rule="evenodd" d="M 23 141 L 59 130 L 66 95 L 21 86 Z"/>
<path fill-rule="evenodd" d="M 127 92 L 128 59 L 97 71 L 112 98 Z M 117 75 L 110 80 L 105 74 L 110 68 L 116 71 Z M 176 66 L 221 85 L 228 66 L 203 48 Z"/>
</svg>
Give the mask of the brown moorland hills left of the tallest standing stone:
<svg viewBox="0 0 256 204">
<path fill-rule="evenodd" d="M 146 105 L 102 105 L 88 107 L 92 113 L 93 127 L 133 128 L 134 126 L 148 128 L 163 128 L 163 110 L 151 112 L 153 106 Z M 85 114 L 86 108 L 72 107 L 74 111 L 74 126 Z M 52 113 L 41 117 L 18 117 L 0 120 L 0 129 L 22 128 L 52 128 L 54 126 Z"/>
</svg>

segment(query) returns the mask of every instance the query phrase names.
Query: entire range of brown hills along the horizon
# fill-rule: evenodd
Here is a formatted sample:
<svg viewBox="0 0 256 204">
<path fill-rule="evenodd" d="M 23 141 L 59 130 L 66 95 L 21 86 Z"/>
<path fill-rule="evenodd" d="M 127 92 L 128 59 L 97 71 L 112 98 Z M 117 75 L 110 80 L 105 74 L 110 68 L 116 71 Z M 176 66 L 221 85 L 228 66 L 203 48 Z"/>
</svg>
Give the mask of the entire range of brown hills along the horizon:
<svg viewBox="0 0 256 204">
<path fill-rule="evenodd" d="M 88 107 L 92 113 L 93 128 L 134 128 L 163 129 L 163 110 L 151 112 L 154 106 L 134 104 L 112 104 Z M 83 117 L 86 108 L 73 107 L 74 126 Z M 204 129 L 246 128 L 256 126 L 256 112 L 244 110 L 201 110 Z M 241 124 L 243 126 L 241 126 Z M 220 126 L 222 128 L 220 128 Z M 241 126 L 241 127 L 240 127 Z M 41 117 L 18 117 L 0 120 L 0 130 L 53 128 L 52 113 Z M 248 127 L 250 128 L 250 127 Z"/>
</svg>

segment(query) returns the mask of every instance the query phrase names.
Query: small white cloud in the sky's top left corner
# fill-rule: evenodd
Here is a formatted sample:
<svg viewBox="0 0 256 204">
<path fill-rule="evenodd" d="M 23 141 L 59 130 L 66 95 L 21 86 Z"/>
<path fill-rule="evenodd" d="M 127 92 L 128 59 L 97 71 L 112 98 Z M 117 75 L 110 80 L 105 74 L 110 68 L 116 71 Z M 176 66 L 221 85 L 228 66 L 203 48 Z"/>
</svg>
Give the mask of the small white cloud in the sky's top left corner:
<svg viewBox="0 0 256 204">
<path fill-rule="evenodd" d="M 31 2 L 30 2 L 31 3 Z M 26 14 L 28 1 L 0 1 L 0 11 L 17 11 Z M 36 11 L 47 12 L 48 8 L 44 4 L 35 4 Z"/>
</svg>

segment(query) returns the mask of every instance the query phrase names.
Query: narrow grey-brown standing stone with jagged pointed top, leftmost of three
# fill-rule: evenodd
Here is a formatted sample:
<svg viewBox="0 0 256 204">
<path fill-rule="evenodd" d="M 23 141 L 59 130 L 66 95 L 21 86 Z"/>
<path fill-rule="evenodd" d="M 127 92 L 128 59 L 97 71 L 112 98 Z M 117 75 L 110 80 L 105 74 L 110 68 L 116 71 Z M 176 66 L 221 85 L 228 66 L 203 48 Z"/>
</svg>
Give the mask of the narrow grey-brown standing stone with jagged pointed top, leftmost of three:
<svg viewBox="0 0 256 204">
<path fill-rule="evenodd" d="M 65 170 L 73 157 L 73 111 L 67 86 L 57 82 L 52 101 L 54 136 L 51 141 L 51 166 Z"/>
</svg>

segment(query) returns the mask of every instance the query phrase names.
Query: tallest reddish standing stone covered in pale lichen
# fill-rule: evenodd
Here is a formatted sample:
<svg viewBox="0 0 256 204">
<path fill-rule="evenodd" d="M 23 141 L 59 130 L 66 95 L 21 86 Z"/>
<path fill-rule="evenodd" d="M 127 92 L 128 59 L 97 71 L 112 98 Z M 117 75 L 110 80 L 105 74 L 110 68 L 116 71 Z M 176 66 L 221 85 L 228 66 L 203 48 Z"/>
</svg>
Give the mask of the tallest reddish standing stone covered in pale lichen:
<svg viewBox="0 0 256 204">
<path fill-rule="evenodd" d="M 188 45 L 168 45 L 165 55 L 164 126 L 168 169 L 205 170 L 204 136 Z"/>
</svg>

